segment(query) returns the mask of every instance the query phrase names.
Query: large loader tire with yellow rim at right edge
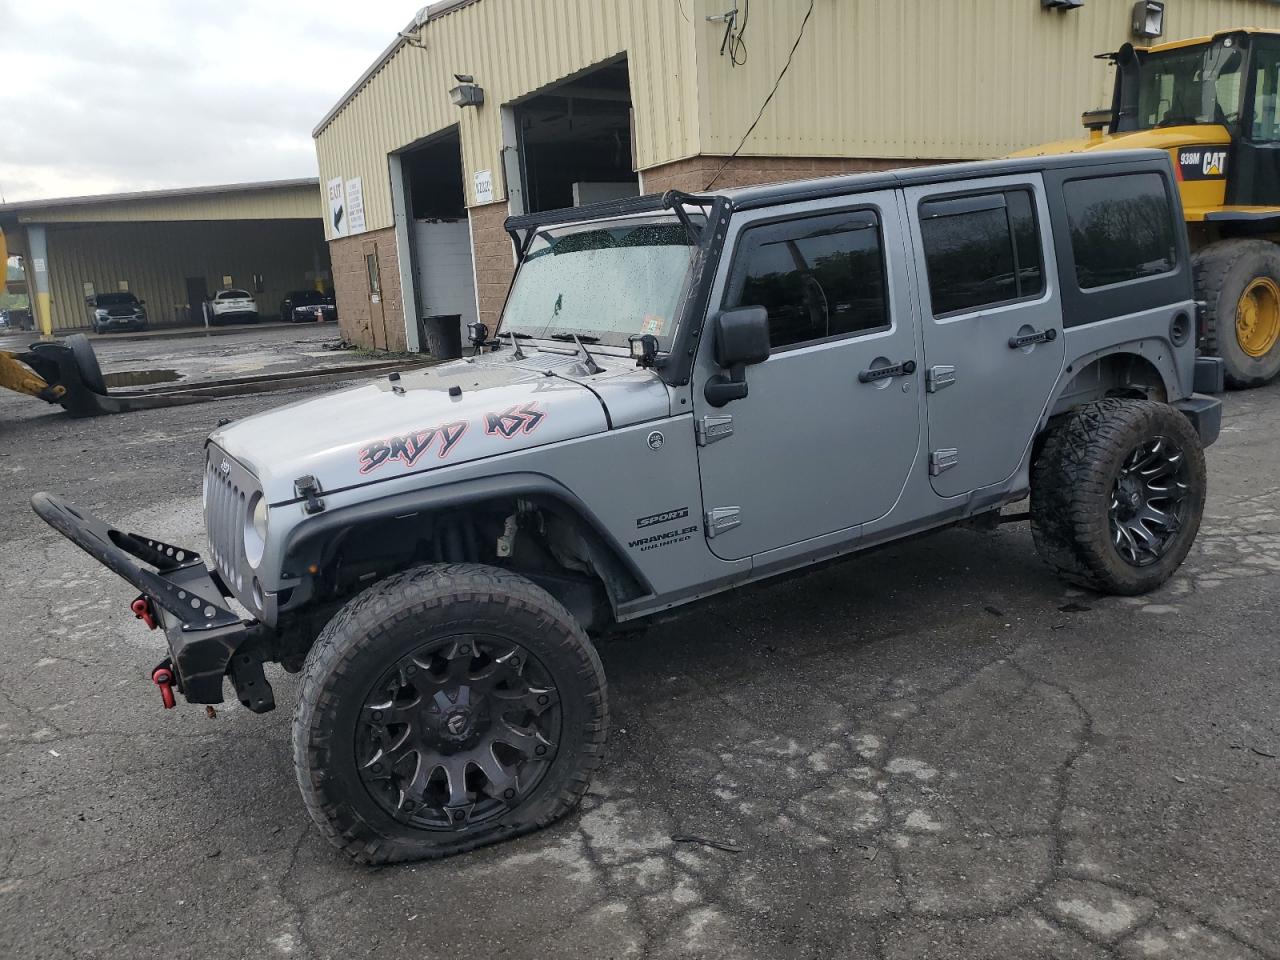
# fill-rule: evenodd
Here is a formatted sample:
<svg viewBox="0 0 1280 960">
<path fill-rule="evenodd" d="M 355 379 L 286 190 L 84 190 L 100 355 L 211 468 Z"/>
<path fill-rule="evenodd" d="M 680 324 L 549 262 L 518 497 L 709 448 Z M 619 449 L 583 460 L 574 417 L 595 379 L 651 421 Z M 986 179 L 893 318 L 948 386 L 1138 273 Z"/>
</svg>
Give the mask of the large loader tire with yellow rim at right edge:
<svg viewBox="0 0 1280 960">
<path fill-rule="evenodd" d="M 1228 239 L 1196 253 L 1204 301 L 1202 349 L 1222 358 L 1229 387 L 1261 387 L 1280 374 L 1280 246 Z"/>
</svg>

